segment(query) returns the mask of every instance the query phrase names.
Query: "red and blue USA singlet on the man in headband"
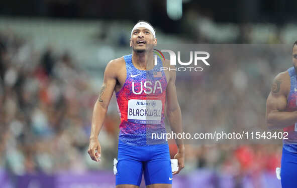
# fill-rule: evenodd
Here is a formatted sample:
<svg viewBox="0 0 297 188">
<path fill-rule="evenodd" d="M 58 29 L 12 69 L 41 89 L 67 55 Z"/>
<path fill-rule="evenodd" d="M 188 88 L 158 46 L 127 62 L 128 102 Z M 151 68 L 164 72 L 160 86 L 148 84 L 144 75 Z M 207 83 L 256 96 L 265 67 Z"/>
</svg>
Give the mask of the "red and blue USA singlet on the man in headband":
<svg viewBox="0 0 297 188">
<path fill-rule="evenodd" d="M 124 56 L 126 81 L 116 93 L 121 114 L 119 139 L 126 144 L 144 146 L 153 144 L 152 133 L 165 133 L 164 104 L 167 80 L 162 61 L 152 70 L 139 70 L 132 63 L 132 55 Z M 158 144 L 164 140 L 158 140 Z"/>
</svg>

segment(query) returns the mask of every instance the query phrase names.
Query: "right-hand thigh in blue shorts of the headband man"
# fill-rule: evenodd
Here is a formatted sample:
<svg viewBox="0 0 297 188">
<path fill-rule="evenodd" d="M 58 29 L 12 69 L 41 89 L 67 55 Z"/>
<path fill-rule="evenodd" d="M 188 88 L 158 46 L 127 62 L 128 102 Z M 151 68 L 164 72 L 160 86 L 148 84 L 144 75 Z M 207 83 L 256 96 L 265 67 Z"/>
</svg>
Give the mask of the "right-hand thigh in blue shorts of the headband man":
<svg viewBox="0 0 297 188">
<path fill-rule="evenodd" d="M 154 146 L 153 152 L 154 154 L 152 155 L 151 159 L 144 162 L 143 174 L 145 184 L 172 184 L 173 177 L 171 172 L 171 162 L 168 145 L 166 144 Z M 157 187 L 168 186 L 160 185 Z"/>
</svg>

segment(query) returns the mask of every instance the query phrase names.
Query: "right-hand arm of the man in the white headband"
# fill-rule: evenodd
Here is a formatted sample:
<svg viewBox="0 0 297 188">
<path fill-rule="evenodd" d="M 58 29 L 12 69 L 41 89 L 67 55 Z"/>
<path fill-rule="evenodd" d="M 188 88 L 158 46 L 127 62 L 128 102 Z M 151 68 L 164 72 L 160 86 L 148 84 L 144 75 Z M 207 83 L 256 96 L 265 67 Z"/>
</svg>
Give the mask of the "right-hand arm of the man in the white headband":
<svg viewBox="0 0 297 188">
<path fill-rule="evenodd" d="M 171 130 L 178 134 L 182 134 L 181 125 L 181 111 L 177 101 L 176 88 L 175 88 L 175 71 L 169 72 L 170 79 L 166 88 L 166 114 L 169 121 Z M 178 171 L 173 172 L 173 174 L 178 173 L 184 167 L 184 144 L 182 139 L 175 139 L 178 152 L 174 158 L 178 159 Z"/>
</svg>

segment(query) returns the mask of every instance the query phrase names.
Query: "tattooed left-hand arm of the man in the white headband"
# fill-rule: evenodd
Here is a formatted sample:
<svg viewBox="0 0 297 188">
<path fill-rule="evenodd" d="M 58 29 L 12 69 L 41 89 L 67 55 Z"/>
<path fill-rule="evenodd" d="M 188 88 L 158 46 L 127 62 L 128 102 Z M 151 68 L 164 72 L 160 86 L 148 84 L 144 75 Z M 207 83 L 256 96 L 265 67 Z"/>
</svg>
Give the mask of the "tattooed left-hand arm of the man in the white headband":
<svg viewBox="0 0 297 188">
<path fill-rule="evenodd" d="M 114 66 L 115 65 L 113 61 L 111 61 L 107 65 L 104 72 L 103 85 L 93 108 L 88 153 L 91 159 L 94 161 L 100 161 L 100 159 L 97 159 L 101 156 L 101 146 L 98 141 L 98 134 L 100 133 L 101 128 L 103 126 L 105 115 L 108 110 L 108 105 L 113 96 L 113 92 L 117 83 L 117 77 L 114 71 Z M 95 153 L 95 150 L 97 150 L 97 154 Z"/>
</svg>

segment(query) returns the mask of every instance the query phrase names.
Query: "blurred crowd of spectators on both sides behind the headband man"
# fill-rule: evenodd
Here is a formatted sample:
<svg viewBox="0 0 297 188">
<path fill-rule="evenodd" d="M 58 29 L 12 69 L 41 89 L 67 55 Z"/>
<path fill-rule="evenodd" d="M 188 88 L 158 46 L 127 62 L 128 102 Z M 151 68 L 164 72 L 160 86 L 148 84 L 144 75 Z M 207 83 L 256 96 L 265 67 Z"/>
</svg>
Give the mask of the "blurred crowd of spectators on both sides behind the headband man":
<svg viewBox="0 0 297 188">
<path fill-rule="evenodd" d="M 269 58 L 267 51 L 253 58 L 246 53 L 258 51 L 242 49 L 230 56 L 232 50 L 217 49 L 214 66 L 177 76 L 185 132 L 265 130 L 267 83 L 288 67 L 278 63 L 279 53 Z M 15 174 L 112 169 L 119 115 L 109 112 L 100 133 L 102 162 L 91 161 L 86 151 L 98 93 L 73 57 L 52 46 L 36 50 L 14 32 L 0 33 L 0 167 Z M 173 156 L 176 146 L 169 143 Z M 183 173 L 211 168 L 238 178 L 256 176 L 274 173 L 280 157 L 280 144 L 189 144 Z"/>
</svg>

